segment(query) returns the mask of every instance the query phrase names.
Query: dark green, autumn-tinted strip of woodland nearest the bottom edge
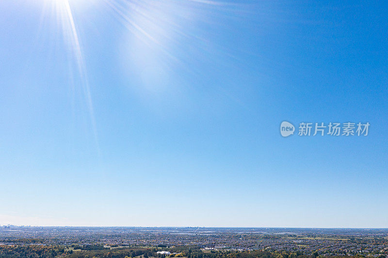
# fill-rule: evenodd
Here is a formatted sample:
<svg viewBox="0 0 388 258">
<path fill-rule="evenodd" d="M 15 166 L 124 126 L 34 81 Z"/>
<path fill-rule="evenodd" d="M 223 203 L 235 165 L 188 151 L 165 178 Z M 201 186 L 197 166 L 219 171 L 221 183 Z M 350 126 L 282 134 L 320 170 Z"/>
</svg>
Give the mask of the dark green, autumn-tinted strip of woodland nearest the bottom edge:
<svg viewBox="0 0 388 258">
<path fill-rule="evenodd" d="M 158 251 L 169 251 L 170 255 L 158 254 Z M 103 245 L 78 245 L 70 246 L 46 246 L 39 244 L 30 245 L 0 245 L 1 258 L 317 258 L 317 252 L 303 254 L 296 252 L 259 251 L 259 250 L 202 250 L 198 246 L 176 247 L 104 247 Z M 336 256 L 325 256 L 334 258 Z M 343 256 L 342 256 L 343 257 Z M 348 258 L 368 258 L 368 256 L 356 255 Z M 385 255 L 371 256 L 370 258 L 386 258 Z"/>
</svg>

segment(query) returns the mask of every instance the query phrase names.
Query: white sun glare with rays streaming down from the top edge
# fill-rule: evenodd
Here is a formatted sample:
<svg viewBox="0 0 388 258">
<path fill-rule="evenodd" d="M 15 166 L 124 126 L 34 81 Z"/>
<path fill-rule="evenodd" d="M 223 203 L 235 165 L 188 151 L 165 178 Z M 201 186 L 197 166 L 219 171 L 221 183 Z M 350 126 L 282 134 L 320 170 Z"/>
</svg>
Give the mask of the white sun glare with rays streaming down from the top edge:
<svg viewBox="0 0 388 258">
<path fill-rule="evenodd" d="M 139 62 L 137 66 L 141 62 L 152 62 L 157 58 L 163 60 L 166 64 L 165 66 L 172 62 L 179 63 L 180 60 L 176 54 L 176 46 L 180 46 L 179 39 L 198 40 L 184 31 L 183 24 L 190 23 L 191 20 L 189 19 L 192 19 L 194 15 L 206 10 L 208 7 L 220 7 L 223 3 L 222 1 L 211 0 L 94 0 L 93 2 L 91 0 L 44 0 L 42 17 L 46 19 L 48 11 L 51 12 L 51 17 L 56 21 L 57 27 L 61 30 L 65 45 L 69 46 L 68 53 L 71 55 L 69 60 L 73 61 L 74 68 L 76 68 L 76 71 L 72 71 L 72 73 L 78 73 L 81 79 L 80 85 L 82 85 L 82 91 L 98 145 L 93 102 L 78 30 L 81 24 L 76 23 L 73 13 L 73 8 L 78 8 L 80 4 L 92 3 L 103 12 L 110 13 L 119 21 L 129 32 L 129 35 L 137 39 L 137 42 L 140 42 L 136 47 L 140 46 L 139 49 L 141 47 L 144 48 L 144 46 L 152 48 L 152 54 L 147 50 L 143 52 L 138 51 L 137 56 L 134 58 Z M 52 23 L 51 20 L 50 23 Z M 208 44 L 205 41 L 204 44 Z M 133 47 L 135 46 L 133 45 Z M 142 55 L 148 56 L 144 57 Z M 73 65 L 69 65 L 69 67 L 73 67 Z M 159 74 L 159 71 L 156 72 Z M 151 74 L 156 72 L 151 71 Z M 145 77 L 149 76 L 146 75 Z"/>
</svg>

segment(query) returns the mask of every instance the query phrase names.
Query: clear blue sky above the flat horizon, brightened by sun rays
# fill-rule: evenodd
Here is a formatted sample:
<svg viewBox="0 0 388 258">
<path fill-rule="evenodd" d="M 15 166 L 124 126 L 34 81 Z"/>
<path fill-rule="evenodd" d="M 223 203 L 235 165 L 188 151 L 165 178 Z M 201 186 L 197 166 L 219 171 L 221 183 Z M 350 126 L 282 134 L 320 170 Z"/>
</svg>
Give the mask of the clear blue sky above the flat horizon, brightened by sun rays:
<svg viewBox="0 0 388 258">
<path fill-rule="evenodd" d="M 387 7 L 2 0 L 0 224 L 387 228 Z"/>
</svg>

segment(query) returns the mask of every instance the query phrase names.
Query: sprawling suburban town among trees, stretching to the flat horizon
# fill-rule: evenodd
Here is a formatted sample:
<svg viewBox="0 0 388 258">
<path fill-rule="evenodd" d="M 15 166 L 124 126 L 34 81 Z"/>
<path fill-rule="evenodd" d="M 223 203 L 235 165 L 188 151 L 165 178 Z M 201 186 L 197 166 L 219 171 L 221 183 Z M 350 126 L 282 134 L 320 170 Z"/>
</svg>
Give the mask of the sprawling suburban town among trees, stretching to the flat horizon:
<svg viewBox="0 0 388 258">
<path fill-rule="evenodd" d="M 193 253 L 200 253 L 202 257 L 242 253 L 260 257 L 257 254 L 265 253 L 278 258 L 386 258 L 388 229 L 1 227 L 0 257 L 23 257 L 17 253 L 9 256 L 7 252 L 16 247 L 34 246 L 55 252 L 32 252 L 28 257 L 86 257 L 85 253 L 99 250 L 111 257 L 115 257 L 115 252 L 126 251 L 128 257 L 145 258 L 189 257 Z"/>
</svg>

